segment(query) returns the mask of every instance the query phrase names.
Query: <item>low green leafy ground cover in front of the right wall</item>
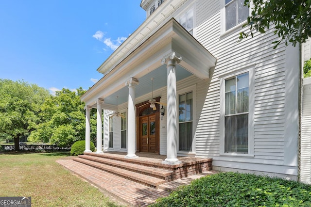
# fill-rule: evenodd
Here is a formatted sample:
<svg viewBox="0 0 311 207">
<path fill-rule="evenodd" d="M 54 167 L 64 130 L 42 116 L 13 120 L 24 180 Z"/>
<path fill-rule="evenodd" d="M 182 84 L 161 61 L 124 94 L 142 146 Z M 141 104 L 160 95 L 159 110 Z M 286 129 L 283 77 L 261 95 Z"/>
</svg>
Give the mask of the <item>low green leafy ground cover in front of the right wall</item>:
<svg viewBox="0 0 311 207">
<path fill-rule="evenodd" d="M 151 207 L 310 207 L 311 185 L 281 178 L 219 173 L 160 198 Z"/>
</svg>

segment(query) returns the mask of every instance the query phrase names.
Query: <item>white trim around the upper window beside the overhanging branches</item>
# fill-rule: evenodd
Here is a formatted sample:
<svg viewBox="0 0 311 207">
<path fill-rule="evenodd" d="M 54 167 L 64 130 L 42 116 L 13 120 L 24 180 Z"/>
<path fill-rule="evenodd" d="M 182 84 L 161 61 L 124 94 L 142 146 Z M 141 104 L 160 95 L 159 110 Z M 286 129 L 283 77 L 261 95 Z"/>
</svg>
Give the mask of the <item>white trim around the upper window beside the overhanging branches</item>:
<svg viewBox="0 0 311 207">
<path fill-rule="evenodd" d="M 252 8 L 252 3 L 251 6 L 248 10 L 248 15 L 251 15 L 251 8 Z M 242 25 L 247 23 L 247 19 L 245 21 L 242 21 L 241 23 L 237 24 L 236 26 L 230 28 L 229 30 L 225 30 L 225 0 L 220 1 L 220 36 L 226 35 L 228 33 L 238 31 L 242 29 Z"/>
</svg>

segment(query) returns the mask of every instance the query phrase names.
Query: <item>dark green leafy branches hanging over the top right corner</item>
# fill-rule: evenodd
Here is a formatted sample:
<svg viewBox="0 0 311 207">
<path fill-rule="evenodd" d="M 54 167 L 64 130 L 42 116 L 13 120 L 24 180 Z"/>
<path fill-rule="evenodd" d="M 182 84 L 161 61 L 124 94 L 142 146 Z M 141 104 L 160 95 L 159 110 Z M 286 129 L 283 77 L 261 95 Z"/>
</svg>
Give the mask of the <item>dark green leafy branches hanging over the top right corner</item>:
<svg viewBox="0 0 311 207">
<path fill-rule="evenodd" d="M 273 26 L 274 33 L 280 40 L 273 42 L 276 48 L 282 41 L 287 46 L 291 43 L 304 43 L 311 37 L 311 0 L 245 0 L 244 5 L 252 9 L 251 16 L 247 18 L 249 33 L 240 33 L 240 39 L 253 31 L 265 33 Z"/>
</svg>

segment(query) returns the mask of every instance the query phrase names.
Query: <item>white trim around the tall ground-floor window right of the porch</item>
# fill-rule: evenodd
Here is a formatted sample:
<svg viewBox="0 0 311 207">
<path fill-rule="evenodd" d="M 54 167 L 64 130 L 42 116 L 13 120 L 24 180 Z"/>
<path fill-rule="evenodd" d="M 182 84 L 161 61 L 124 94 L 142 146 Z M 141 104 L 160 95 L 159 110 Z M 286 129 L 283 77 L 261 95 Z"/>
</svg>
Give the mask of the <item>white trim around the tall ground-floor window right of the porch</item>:
<svg viewBox="0 0 311 207">
<path fill-rule="evenodd" d="M 220 76 L 220 156 L 254 157 L 255 64 Z M 225 153 L 225 80 L 248 72 L 248 152 Z"/>
</svg>

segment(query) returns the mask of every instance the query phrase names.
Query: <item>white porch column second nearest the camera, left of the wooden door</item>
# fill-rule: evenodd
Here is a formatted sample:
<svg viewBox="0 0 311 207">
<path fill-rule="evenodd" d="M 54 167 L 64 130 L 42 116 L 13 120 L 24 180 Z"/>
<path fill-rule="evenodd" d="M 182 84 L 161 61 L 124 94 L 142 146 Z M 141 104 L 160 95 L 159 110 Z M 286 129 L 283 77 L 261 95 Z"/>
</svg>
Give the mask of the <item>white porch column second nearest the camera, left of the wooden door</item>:
<svg viewBox="0 0 311 207">
<path fill-rule="evenodd" d="M 131 78 L 125 83 L 128 85 L 128 120 L 127 120 L 127 155 L 125 158 L 135 159 L 138 156 L 135 154 L 136 140 L 136 114 L 135 114 L 135 86 L 138 85 L 138 80 Z"/>
</svg>

